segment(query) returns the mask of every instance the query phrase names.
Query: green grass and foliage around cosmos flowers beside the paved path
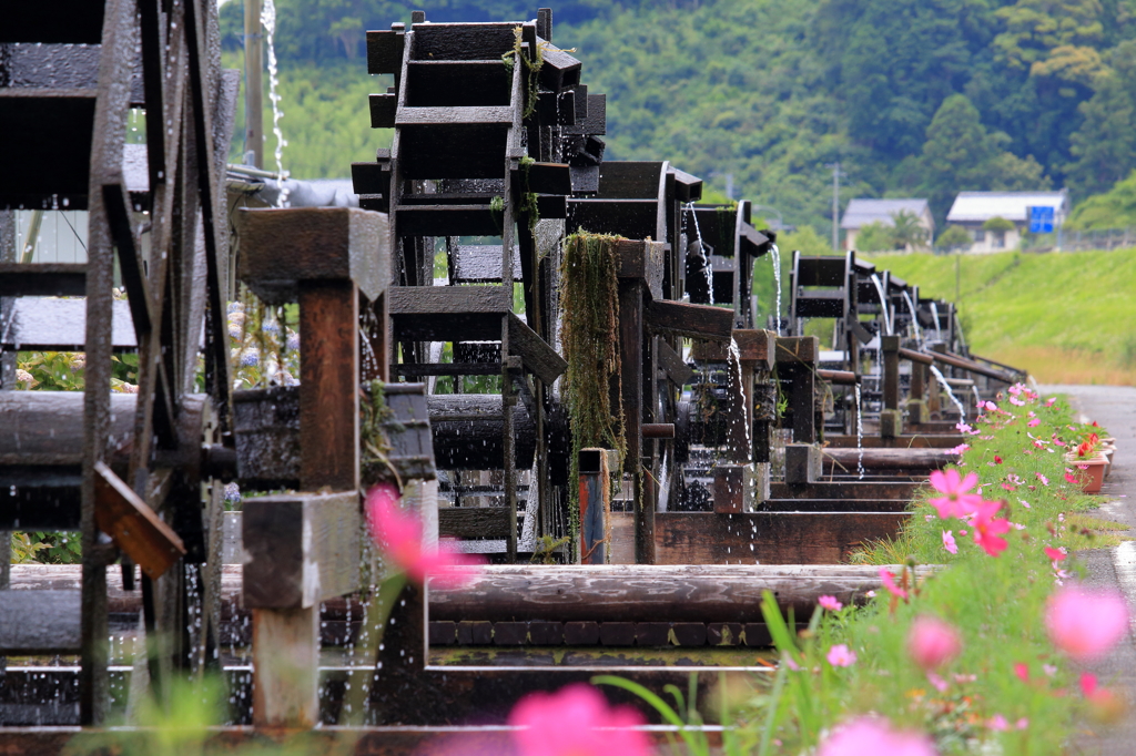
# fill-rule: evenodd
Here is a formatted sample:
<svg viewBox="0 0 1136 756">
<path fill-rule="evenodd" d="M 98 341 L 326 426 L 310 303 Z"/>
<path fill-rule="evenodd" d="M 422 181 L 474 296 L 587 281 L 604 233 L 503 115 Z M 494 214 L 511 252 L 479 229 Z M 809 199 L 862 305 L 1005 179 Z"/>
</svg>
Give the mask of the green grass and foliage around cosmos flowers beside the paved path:
<svg viewBox="0 0 1136 756">
<path fill-rule="evenodd" d="M 1021 408 L 1001 400 L 1000 405 L 1011 412 L 988 413 L 975 423 L 978 432 L 968 437 L 971 448 L 959 467 L 963 474 L 976 472 L 983 497 L 1002 499 L 999 516 L 1020 527 L 1004 535 L 1008 548 L 991 556 L 961 534 L 969 523 L 938 519 L 927 487 L 912 503 L 901 535 L 854 560 L 941 565 L 918 582 L 904 571 L 897 582 L 907 598 L 880 589 L 863 607 L 818 611 L 809 630 L 796 637 L 784 627 L 775 631 L 776 608 L 772 618 L 767 614 L 782 658 L 800 671 L 786 671 L 786 663 L 776 680 L 759 682 L 758 695 L 735 721 L 776 738 L 784 748 L 775 753 L 810 753 L 834 725 L 862 715 L 885 716 L 926 733 L 944 756 L 1066 753 L 1084 699 L 1072 692 L 1080 670 L 1055 653 L 1046 635 L 1046 600 L 1059 578 L 1070 578 L 1054 573 L 1043 549 L 1063 547 L 1071 555 L 1112 545 L 1120 526 L 1079 513 L 1101 499 L 1064 478 L 1064 448 L 1087 431 L 1072 423 L 1068 405 L 1045 406 L 1030 397 Z M 1037 426 L 1027 425 L 1030 414 Z M 1042 447 L 1027 434 L 1043 439 Z M 1067 446 L 1055 445 L 1055 437 Z M 954 532 L 958 554 L 944 548 L 944 530 Z M 1074 558 L 1062 566 L 1071 576 L 1080 571 Z M 950 623 L 962 641 L 961 654 L 937 670 L 937 678 L 925 674 L 908 654 L 908 633 L 919 615 Z M 857 655 L 851 666 L 826 661 L 836 644 Z M 1028 670 L 1028 682 L 1016 665 Z M 771 707 L 774 702 L 778 705 Z M 995 720 L 1004 720 L 1008 729 L 992 726 Z"/>
</svg>

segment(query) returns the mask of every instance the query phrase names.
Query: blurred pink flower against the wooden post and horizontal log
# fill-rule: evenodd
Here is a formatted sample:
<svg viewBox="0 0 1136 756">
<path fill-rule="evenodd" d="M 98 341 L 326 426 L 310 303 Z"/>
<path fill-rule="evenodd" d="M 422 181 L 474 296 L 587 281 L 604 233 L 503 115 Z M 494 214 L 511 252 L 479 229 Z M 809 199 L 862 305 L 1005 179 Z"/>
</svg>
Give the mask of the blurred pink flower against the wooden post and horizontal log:
<svg viewBox="0 0 1136 756">
<path fill-rule="evenodd" d="M 448 585 L 461 585 L 474 577 L 470 569 L 482 560 L 444 548 L 423 551 L 423 523 L 399 506 L 401 494 L 393 484 L 378 484 L 367 492 L 367 523 L 375 544 L 414 582 L 428 573 L 442 572 Z M 458 568 L 458 569 L 454 569 Z"/>
</svg>

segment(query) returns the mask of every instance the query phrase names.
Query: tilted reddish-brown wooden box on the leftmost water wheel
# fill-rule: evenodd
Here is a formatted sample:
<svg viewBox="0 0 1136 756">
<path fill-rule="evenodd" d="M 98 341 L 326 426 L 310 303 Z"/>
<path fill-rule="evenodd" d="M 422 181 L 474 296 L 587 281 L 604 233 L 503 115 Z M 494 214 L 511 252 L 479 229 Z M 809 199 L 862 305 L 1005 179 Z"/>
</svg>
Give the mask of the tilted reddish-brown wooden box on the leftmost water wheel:
<svg viewBox="0 0 1136 756">
<path fill-rule="evenodd" d="M 174 529 L 103 462 L 94 463 L 94 519 L 151 580 L 157 580 L 185 555 Z"/>
</svg>

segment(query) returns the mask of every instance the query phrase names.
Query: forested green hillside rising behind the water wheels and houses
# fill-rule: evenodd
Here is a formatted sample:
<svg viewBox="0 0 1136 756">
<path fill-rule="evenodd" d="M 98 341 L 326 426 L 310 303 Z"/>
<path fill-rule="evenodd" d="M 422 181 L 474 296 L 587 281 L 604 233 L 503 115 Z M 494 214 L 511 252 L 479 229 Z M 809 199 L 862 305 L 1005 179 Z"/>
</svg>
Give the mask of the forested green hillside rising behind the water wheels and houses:
<svg viewBox="0 0 1136 756">
<path fill-rule="evenodd" d="M 240 0 L 223 8 L 241 45 Z M 424 2 L 427 18 L 523 19 L 510 0 Z M 1136 168 L 1136 0 L 570 0 L 554 42 L 608 94 L 608 154 L 669 159 L 719 191 L 827 230 L 842 198 L 1068 186 Z M 343 176 L 368 133 L 364 32 L 387 0 L 277 0 L 285 166 Z M 350 120 L 351 123 L 346 123 Z M 359 121 L 359 123 L 356 123 Z M 240 142 L 240 140 L 237 140 Z M 1110 207 L 1104 203 L 1102 207 Z"/>
</svg>

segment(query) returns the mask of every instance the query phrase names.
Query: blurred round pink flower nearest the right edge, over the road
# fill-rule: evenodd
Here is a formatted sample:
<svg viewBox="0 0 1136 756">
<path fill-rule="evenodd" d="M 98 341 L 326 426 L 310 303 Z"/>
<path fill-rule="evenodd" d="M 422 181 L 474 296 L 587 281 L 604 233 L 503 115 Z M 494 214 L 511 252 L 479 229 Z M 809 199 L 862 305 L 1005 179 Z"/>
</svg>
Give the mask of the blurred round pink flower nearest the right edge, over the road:
<svg viewBox="0 0 1136 756">
<path fill-rule="evenodd" d="M 1067 586 L 1050 597 L 1045 624 L 1054 646 L 1077 662 L 1094 662 L 1128 631 L 1128 604 L 1114 590 Z"/>
</svg>

